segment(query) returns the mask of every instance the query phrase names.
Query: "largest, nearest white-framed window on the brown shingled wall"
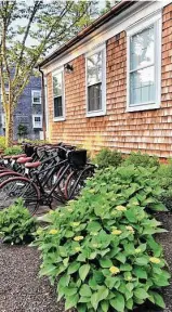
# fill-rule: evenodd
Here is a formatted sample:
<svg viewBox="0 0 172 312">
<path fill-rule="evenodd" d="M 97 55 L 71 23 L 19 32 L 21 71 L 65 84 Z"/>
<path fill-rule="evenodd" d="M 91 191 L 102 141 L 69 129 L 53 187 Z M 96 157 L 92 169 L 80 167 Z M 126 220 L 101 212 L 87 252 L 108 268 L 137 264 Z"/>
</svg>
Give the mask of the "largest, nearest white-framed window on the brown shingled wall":
<svg viewBox="0 0 172 312">
<path fill-rule="evenodd" d="M 129 112 L 160 106 L 161 20 L 153 20 L 128 32 Z"/>
</svg>

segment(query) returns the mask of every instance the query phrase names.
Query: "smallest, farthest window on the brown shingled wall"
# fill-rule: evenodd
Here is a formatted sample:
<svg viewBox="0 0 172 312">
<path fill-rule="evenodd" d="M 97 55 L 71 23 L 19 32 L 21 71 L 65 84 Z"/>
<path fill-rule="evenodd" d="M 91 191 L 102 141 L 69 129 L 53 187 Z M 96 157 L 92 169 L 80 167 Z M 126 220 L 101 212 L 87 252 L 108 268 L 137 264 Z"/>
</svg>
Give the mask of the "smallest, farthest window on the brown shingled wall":
<svg viewBox="0 0 172 312">
<path fill-rule="evenodd" d="M 54 120 L 64 120 L 64 72 L 53 75 Z"/>
</svg>

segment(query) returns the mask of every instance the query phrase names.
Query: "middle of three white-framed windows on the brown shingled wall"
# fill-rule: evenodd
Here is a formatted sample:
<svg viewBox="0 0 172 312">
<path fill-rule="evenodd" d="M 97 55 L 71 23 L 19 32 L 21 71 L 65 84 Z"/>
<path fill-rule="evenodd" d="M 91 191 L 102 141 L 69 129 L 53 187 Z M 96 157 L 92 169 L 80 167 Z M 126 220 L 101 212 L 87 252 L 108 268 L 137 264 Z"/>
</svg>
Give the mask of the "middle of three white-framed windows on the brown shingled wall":
<svg viewBox="0 0 172 312">
<path fill-rule="evenodd" d="M 106 113 L 106 47 L 87 55 L 87 116 Z"/>
</svg>

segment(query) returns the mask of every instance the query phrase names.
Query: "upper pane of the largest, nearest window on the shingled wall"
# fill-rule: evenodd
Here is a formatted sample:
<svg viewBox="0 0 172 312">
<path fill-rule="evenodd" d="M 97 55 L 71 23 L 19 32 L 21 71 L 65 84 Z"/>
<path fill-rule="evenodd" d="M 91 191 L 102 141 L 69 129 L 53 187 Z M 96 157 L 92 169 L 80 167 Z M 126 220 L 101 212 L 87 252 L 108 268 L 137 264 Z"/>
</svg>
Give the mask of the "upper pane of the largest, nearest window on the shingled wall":
<svg viewBox="0 0 172 312">
<path fill-rule="evenodd" d="M 131 37 L 130 41 L 130 69 L 138 66 L 149 66 L 154 63 L 155 52 L 155 27 L 149 28 Z"/>
</svg>

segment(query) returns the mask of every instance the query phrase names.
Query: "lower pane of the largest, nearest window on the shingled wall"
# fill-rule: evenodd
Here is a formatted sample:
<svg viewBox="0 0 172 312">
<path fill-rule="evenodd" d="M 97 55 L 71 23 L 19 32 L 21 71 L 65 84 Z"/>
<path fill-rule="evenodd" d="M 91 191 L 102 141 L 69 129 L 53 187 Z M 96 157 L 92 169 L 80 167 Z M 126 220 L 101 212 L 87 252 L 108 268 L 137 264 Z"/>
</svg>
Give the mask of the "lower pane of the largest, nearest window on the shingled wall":
<svg viewBox="0 0 172 312">
<path fill-rule="evenodd" d="M 130 74 L 130 104 L 155 103 L 155 66 Z"/>
</svg>

